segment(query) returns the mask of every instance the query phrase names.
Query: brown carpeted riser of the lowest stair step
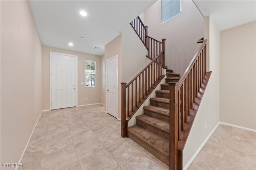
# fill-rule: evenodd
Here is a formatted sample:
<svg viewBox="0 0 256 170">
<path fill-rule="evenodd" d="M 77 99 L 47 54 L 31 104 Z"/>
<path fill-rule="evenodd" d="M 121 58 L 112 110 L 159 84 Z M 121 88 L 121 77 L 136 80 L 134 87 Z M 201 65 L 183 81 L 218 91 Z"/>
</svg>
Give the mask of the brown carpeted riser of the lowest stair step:
<svg viewBox="0 0 256 170">
<path fill-rule="evenodd" d="M 131 138 L 133 141 L 138 143 L 141 147 L 146 149 L 148 152 L 150 152 L 152 155 L 156 156 L 159 160 L 164 162 L 167 166 L 169 165 L 169 158 L 168 156 L 162 154 L 160 151 L 156 150 L 155 148 L 151 147 L 144 141 L 142 141 L 140 138 L 133 135 L 131 132 L 128 131 L 128 137 Z"/>
</svg>

